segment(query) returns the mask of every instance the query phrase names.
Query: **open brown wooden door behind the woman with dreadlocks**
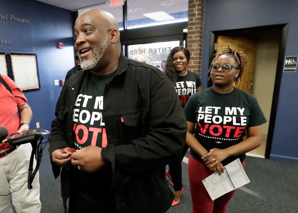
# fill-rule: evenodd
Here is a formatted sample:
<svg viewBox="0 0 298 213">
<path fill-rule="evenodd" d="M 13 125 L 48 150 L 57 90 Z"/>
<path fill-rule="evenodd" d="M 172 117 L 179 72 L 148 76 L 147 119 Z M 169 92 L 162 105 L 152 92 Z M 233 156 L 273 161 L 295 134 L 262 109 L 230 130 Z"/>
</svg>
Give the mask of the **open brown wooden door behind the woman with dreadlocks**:
<svg viewBox="0 0 298 213">
<path fill-rule="evenodd" d="M 240 83 L 237 83 L 236 88 L 252 94 L 252 85 L 254 82 L 255 72 L 255 56 L 257 52 L 257 42 L 250 37 L 244 35 L 229 35 L 218 36 L 217 42 L 218 49 L 227 47 L 236 50 L 237 52 L 243 52 L 248 57 L 248 63 L 244 67 L 244 72 Z M 218 50 L 216 50 L 216 53 Z"/>
</svg>

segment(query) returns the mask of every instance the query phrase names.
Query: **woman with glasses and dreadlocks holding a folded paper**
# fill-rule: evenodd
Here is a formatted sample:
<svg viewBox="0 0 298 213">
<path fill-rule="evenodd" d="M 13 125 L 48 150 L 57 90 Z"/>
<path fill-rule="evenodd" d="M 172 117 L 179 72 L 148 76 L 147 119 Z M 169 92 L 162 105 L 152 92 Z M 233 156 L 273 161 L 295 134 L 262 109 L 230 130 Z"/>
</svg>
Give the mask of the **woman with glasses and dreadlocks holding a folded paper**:
<svg viewBox="0 0 298 213">
<path fill-rule="evenodd" d="M 247 56 L 229 45 L 220 50 L 209 69 L 212 87 L 192 95 L 184 107 L 194 213 L 226 211 L 235 190 L 212 201 L 202 180 L 216 171 L 221 175 L 224 166 L 238 158 L 244 167 L 245 153 L 261 145 L 261 124 L 266 122 L 256 98 L 234 87 L 241 80 Z"/>
</svg>

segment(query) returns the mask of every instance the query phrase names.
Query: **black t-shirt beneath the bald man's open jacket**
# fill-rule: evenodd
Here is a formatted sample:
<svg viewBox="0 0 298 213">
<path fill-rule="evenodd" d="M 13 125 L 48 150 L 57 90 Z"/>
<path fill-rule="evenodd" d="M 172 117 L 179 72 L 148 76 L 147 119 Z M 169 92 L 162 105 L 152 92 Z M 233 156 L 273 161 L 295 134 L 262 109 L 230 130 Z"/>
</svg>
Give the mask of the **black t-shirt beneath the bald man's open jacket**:
<svg viewBox="0 0 298 213">
<path fill-rule="evenodd" d="M 73 115 L 74 148 L 86 146 L 106 147 L 107 137 L 102 119 L 103 94 L 106 83 L 110 82 L 115 72 L 108 75 L 96 75 L 90 71 L 86 74 L 76 99 Z M 90 203 L 85 207 L 87 212 L 115 211 L 114 191 L 110 189 L 112 182 L 111 168 L 88 173 L 76 170 L 76 200 Z M 92 206 L 92 207 L 91 207 Z"/>
</svg>

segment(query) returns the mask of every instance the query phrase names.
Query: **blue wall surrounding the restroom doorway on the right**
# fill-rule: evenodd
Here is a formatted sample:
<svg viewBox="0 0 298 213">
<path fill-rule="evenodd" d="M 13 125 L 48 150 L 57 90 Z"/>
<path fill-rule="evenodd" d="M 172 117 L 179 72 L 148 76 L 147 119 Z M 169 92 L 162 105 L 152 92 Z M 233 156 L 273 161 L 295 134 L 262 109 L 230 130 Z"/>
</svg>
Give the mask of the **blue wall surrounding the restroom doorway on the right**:
<svg viewBox="0 0 298 213">
<path fill-rule="evenodd" d="M 298 1 L 206 0 L 204 11 L 202 86 L 207 87 L 210 31 L 288 23 L 285 56 L 298 55 Z M 270 159 L 298 162 L 298 72 L 282 73 Z"/>
</svg>

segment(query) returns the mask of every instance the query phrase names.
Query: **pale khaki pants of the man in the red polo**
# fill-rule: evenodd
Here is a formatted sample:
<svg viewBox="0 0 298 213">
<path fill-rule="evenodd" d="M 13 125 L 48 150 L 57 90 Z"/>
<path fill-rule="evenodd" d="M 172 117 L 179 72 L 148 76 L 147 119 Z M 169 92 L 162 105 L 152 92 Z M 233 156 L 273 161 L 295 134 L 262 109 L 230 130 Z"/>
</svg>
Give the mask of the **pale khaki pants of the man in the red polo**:
<svg viewBox="0 0 298 213">
<path fill-rule="evenodd" d="M 0 158 L 0 194 L 6 195 L 20 189 L 28 180 L 28 168 L 31 155 L 31 144 L 20 145 L 10 154 Z M 34 159 L 33 169 L 36 160 Z M 27 188 L 28 183 L 14 193 L 0 196 L 0 212 L 12 213 L 10 200 L 17 213 L 39 213 L 41 203 L 39 199 L 39 173 L 36 173 L 32 183 L 32 189 Z"/>
</svg>

